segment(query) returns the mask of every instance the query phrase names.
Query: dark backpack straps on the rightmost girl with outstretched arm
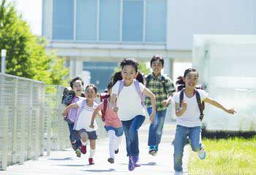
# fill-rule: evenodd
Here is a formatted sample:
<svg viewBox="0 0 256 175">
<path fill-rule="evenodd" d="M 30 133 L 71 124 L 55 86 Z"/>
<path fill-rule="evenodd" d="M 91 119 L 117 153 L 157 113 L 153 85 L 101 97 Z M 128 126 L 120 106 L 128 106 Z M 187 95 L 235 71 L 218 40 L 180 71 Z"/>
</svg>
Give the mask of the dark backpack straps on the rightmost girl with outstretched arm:
<svg viewBox="0 0 256 175">
<path fill-rule="evenodd" d="M 198 108 L 200 110 L 200 117 L 199 118 L 202 121 L 203 120 L 203 116 L 204 116 L 203 110 L 205 109 L 205 103 L 201 102 L 200 94 L 199 94 L 197 89 L 203 90 L 203 85 L 197 85 L 195 87 L 195 92 L 194 92 L 195 93 L 195 98 L 197 99 L 197 105 L 198 105 Z M 184 99 L 184 88 L 181 89 L 180 91 L 181 91 L 181 93 L 179 95 L 179 104 L 181 106 L 181 103 L 182 103 L 182 101 Z"/>
</svg>

